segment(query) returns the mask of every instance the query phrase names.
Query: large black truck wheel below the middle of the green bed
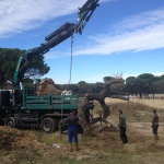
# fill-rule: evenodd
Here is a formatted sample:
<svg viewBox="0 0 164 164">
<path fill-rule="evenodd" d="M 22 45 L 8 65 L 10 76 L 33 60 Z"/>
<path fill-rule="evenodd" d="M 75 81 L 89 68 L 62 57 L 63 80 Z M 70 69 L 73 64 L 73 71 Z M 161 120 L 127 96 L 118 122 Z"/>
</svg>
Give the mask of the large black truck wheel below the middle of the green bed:
<svg viewBox="0 0 164 164">
<path fill-rule="evenodd" d="M 50 132 L 54 132 L 56 127 L 57 127 L 57 122 L 54 118 L 48 117 L 42 120 L 42 124 L 40 124 L 42 131 L 50 133 Z"/>
</svg>

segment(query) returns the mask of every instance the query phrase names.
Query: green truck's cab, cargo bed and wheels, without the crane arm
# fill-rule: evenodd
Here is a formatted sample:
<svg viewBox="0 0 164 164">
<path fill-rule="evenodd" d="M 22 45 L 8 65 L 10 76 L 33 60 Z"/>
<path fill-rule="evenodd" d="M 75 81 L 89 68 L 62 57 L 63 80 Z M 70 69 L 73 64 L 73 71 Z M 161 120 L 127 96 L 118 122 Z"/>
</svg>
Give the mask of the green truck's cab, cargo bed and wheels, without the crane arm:
<svg viewBox="0 0 164 164">
<path fill-rule="evenodd" d="M 9 127 L 40 128 L 45 132 L 58 129 L 59 120 L 78 109 L 78 95 L 28 95 L 22 90 L 21 104 L 14 93 L 0 91 L 0 122 Z"/>
</svg>

